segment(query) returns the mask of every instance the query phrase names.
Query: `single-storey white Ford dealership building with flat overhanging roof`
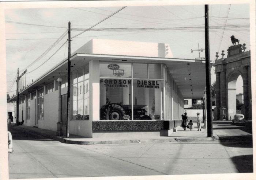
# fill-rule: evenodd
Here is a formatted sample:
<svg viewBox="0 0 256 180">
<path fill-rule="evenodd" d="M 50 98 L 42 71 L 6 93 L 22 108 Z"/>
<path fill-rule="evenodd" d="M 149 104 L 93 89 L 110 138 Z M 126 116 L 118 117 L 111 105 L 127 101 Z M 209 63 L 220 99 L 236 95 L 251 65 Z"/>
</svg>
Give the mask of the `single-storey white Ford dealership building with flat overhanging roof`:
<svg viewBox="0 0 256 180">
<path fill-rule="evenodd" d="M 60 107 L 65 132 L 67 62 L 19 92 L 19 121 L 57 131 Z M 184 98 L 202 98 L 204 73 L 204 61 L 173 58 L 168 44 L 92 39 L 71 55 L 69 132 L 159 130 L 181 119 Z"/>
</svg>

